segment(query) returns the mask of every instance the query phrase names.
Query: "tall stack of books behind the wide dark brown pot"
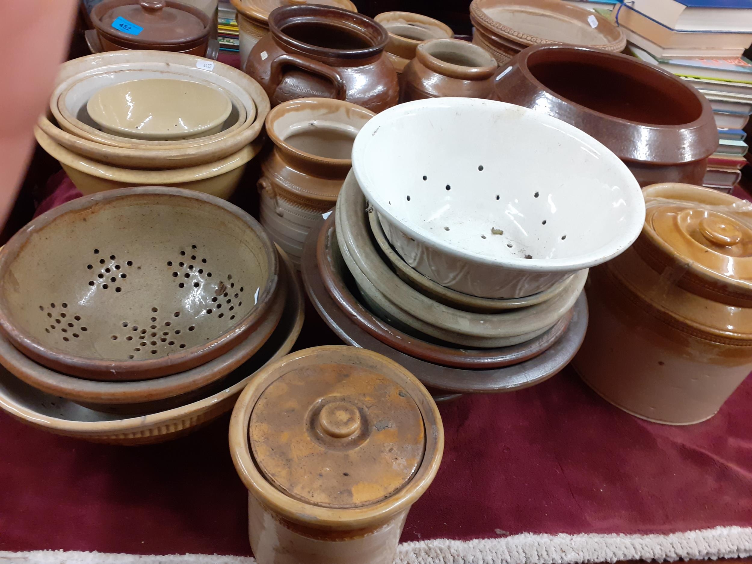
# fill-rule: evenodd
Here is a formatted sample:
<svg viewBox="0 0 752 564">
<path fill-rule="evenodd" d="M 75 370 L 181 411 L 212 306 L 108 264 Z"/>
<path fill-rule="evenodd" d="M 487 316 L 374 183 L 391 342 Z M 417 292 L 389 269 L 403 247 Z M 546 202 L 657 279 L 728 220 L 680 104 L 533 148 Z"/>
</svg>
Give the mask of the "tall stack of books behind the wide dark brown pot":
<svg viewBox="0 0 752 564">
<path fill-rule="evenodd" d="M 720 144 L 704 184 L 730 192 L 746 164 L 752 114 L 752 0 L 626 0 L 611 11 L 627 53 L 678 75 L 710 102 Z"/>
</svg>

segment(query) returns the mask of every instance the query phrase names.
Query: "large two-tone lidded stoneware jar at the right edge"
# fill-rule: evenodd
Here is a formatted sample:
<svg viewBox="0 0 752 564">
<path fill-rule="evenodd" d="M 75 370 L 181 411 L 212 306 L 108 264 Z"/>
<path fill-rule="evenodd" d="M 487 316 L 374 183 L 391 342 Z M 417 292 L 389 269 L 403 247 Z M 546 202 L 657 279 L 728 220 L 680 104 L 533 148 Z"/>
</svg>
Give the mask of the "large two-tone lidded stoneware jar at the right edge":
<svg viewBox="0 0 752 564">
<path fill-rule="evenodd" d="M 641 235 L 590 270 L 575 368 L 657 423 L 712 417 L 752 370 L 752 206 L 687 184 L 643 190 Z"/>
</svg>

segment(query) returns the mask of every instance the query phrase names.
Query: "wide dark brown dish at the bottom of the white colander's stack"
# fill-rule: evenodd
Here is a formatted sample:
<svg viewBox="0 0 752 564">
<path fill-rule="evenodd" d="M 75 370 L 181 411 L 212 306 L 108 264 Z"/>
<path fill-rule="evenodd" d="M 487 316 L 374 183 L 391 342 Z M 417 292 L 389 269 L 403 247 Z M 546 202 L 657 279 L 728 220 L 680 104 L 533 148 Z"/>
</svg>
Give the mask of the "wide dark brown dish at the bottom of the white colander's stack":
<svg viewBox="0 0 752 564">
<path fill-rule="evenodd" d="M 339 338 L 354 347 L 378 351 L 407 367 L 424 385 L 454 393 L 496 393 L 520 390 L 540 384 L 561 370 L 575 356 L 587 329 L 587 301 L 582 295 L 572 310 L 572 321 L 558 341 L 533 359 L 504 368 L 461 370 L 427 362 L 390 347 L 366 332 L 332 299 L 324 286 L 316 246 L 318 234 L 311 232 L 302 259 L 302 275 L 308 297 Z"/>
</svg>

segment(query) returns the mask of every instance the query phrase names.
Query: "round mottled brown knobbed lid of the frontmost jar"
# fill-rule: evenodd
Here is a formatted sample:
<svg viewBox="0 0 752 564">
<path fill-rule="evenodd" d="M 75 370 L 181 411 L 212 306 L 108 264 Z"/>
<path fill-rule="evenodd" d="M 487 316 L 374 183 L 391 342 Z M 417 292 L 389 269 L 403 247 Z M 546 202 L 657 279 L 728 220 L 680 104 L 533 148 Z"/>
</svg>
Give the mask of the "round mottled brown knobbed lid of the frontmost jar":
<svg viewBox="0 0 752 564">
<path fill-rule="evenodd" d="M 411 480 L 426 430 L 405 389 L 413 378 L 408 371 L 370 351 L 326 348 L 311 349 L 261 393 L 250 445 L 262 474 L 287 496 L 359 508 Z"/>
</svg>

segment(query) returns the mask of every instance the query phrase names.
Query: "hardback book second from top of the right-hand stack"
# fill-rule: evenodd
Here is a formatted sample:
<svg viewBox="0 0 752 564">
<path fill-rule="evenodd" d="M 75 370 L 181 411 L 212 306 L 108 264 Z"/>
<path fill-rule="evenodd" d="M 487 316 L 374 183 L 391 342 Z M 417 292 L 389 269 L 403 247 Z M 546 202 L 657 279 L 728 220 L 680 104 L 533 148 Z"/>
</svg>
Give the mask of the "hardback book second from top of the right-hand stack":
<svg viewBox="0 0 752 564">
<path fill-rule="evenodd" d="M 744 50 L 752 44 L 752 33 L 678 32 L 640 14 L 628 4 L 617 4 L 611 11 L 611 17 L 617 20 L 622 29 L 630 29 L 665 48 Z"/>
</svg>

